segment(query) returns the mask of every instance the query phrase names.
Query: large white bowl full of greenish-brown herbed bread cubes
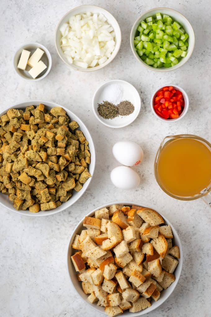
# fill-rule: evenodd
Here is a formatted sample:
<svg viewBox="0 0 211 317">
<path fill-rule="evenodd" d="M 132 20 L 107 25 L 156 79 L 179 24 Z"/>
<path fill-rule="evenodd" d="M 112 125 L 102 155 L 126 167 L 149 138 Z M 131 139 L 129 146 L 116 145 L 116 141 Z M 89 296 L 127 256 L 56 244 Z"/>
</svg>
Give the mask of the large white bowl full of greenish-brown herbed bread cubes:
<svg viewBox="0 0 211 317">
<path fill-rule="evenodd" d="M 0 204 L 47 216 L 74 204 L 95 168 L 84 123 L 53 102 L 31 100 L 0 113 Z"/>
</svg>

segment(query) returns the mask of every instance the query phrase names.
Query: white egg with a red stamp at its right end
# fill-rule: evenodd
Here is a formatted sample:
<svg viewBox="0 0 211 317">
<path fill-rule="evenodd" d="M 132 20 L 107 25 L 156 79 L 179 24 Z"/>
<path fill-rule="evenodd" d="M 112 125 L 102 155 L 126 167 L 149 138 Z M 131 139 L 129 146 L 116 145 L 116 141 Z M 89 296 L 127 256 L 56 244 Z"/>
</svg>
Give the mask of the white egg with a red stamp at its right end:
<svg viewBox="0 0 211 317">
<path fill-rule="evenodd" d="M 126 166 L 138 165 L 144 156 L 142 148 L 132 141 L 117 142 L 112 151 L 115 159 Z"/>
</svg>

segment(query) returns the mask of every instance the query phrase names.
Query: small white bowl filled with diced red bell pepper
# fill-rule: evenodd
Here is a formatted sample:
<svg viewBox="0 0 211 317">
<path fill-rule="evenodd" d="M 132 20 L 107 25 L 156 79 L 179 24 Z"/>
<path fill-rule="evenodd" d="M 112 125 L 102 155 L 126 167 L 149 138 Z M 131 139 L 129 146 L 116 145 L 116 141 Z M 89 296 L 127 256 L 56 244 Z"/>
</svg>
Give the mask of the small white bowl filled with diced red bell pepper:
<svg viewBox="0 0 211 317">
<path fill-rule="evenodd" d="M 182 119 L 187 113 L 188 107 L 188 95 L 179 86 L 164 86 L 152 95 L 152 112 L 162 121 L 172 122 Z"/>
</svg>

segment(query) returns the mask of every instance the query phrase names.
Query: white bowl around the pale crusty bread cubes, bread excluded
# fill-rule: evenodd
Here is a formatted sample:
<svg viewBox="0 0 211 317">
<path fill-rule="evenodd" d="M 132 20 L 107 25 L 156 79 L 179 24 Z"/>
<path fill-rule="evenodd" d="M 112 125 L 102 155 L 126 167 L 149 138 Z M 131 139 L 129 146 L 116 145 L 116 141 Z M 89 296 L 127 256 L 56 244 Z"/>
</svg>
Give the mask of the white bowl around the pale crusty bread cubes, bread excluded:
<svg viewBox="0 0 211 317">
<path fill-rule="evenodd" d="M 110 203 L 110 204 L 105 204 L 105 205 L 102 205 L 98 208 L 96 208 L 95 210 L 91 211 L 88 215 L 86 216 L 89 216 L 89 217 L 92 217 L 94 216 L 95 214 L 95 211 L 98 210 L 98 209 L 101 209 L 101 208 L 104 208 L 104 207 L 109 207 L 113 204 L 124 204 L 125 206 L 131 206 L 131 205 L 138 205 L 138 206 L 141 206 L 142 204 L 138 204 L 138 203 L 133 203 L 133 202 L 114 202 L 114 203 Z M 170 224 L 171 225 L 171 228 L 172 228 L 172 233 L 173 233 L 173 236 L 174 236 L 174 244 L 175 245 L 178 245 L 179 249 L 180 249 L 180 259 L 179 259 L 179 263 L 177 265 L 177 268 L 176 270 L 174 271 L 174 274 L 175 274 L 175 281 L 170 285 L 169 288 L 163 290 L 160 294 L 160 298 L 159 300 L 156 302 L 156 301 L 152 301 L 152 306 L 147 308 L 147 309 L 144 309 L 138 313 L 130 313 L 129 311 L 125 311 L 122 316 L 123 317 L 135 317 L 135 316 L 142 316 L 144 314 L 147 314 L 147 313 L 150 313 L 152 310 L 156 309 L 157 307 L 159 307 L 164 301 L 167 300 L 167 298 L 171 295 L 171 293 L 173 292 L 173 290 L 175 289 L 175 287 L 177 286 L 177 283 L 179 281 L 179 277 L 180 277 L 180 274 L 181 274 L 181 271 L 182 271 L 182 266 L 183 266 L 183 250 L 182 250 L 182 244 L 181 244 L 181 241 L 180 241 L 180 238 L 177 234 L 177 231 L 174 229 L 174 227 L 172 226 L 172 224 L 162 215 L 160 214 L 163 218 L 164 218 L 164 221 L 165 221 L 165 224 Z M 85 216 L 84 216 L 85 217 Z M 72 249 L 71 245 L 73 243 L 73 240 L 75 238 L 75 235 L 76 234 L 80 234 L 81 233 L 81 230 L 84 229 L 83 227 L 83 221 L 84 221 L 84 218 L 78 223 L 77 227 L 75 228 L 75 230 L 73 231 L 71 237 L 70 237 L 70 241 L 69 241 L 69 245 L 68 245 L 68 251 L 67 251 L 67 269 L 68 269 L 68 272 L 69 272 L 69 275 L 70 275 L 70 280 L 72 282 L 72 285 L 74 286 L 74 288 L 76 289 L 76 291 L 78 292 L 78 294 L 80 295 L 80 297 L 88 304 L 90 305 L 92 308 L 96 309 L 98 311 L 98 313 L 102 313 L 102 314 L 105 314 L 104 312 L 104 308 L 103 307 L 100 307 L 100 306 L 97 306 L 96 303 L 95 304 L 91 304 L 90 301 L 88 301 L 87 297 L 88 295 L 84 294 L 83 292 L 83 289 L 81 287 L 81 283 L 78 281 L 77 279 L 77 275 L 76 275 L 76 271 L 75 271 L 75 268 L 72 264 L 72 261 L 71 261 L 71 255 L 74 254 L 76 252 L 75 249 Z"/>
</svg>

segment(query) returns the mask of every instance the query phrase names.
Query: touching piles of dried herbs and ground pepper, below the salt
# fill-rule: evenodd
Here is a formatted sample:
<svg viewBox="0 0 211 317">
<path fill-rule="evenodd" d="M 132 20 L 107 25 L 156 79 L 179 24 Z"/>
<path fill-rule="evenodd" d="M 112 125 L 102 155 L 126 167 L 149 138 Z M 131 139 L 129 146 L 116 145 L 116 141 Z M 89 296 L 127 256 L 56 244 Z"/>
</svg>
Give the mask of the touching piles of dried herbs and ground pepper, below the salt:
<svg viewBox="0 0 211 317">
<path fill-rule="evenodd" d="M 128 100 L 121 101 L 117 106 L 109 101 L 98 103 L 97 111 L 104 119 L 114 119 L 120 116 L 128 116 L 135 110 L 133 104 Z"/>
</svg>

